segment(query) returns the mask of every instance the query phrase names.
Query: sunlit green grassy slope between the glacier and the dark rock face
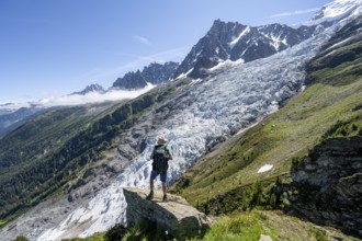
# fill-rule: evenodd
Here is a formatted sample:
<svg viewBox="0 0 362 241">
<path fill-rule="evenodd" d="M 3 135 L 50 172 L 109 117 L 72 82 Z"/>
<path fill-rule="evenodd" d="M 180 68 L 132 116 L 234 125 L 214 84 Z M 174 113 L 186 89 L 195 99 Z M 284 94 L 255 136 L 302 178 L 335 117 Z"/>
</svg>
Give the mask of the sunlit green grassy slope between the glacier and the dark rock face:
<svg viewBox="0 0 362 241">
<path fill-rule="evenodd" d="M 258 200 L 254 193 L 260 190 L 256 188 L 263 188 L 276 177 L 287 180 L 294 159 L 306 156 L 324 138 L 362 135 L 359 28 L 361 19 L 343 27 L 310 61 L 306 77 L 309 85 L 304 92 L 205 157 L 172 186 L 173 192 L 212 214 L 271 203 L 269 196 Z M 351 38 L 335 45 L 341 36 Z M 341 60 L 341 56 L 349 57 Z M 273 169 L 258 173 L 264 164 Z"/>
</svg>

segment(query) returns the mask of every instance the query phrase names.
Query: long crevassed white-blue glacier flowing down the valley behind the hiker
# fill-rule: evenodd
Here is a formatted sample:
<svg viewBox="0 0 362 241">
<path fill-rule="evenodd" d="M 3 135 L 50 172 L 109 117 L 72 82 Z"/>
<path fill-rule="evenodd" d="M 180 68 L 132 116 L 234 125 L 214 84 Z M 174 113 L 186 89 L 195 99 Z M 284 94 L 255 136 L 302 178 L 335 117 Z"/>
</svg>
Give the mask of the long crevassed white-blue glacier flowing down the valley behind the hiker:
<svg viewBox="0 0 362 241">
<path fill-rule="evenodd" d="M 303 88 L 305 64 L 335 33 L 337 25 L 271 57 L 244 65 L 218 69 L 212 78 L 196 81 L 178 103 L 189 106 L 165 119 L 162 127 L 144 137 L 146 149 L 106 188 L 87 205 L 71 211 L 57 227 L 44 231 L 36 240 L 58 240 L 82 223 L 88 227 L 78 237 L 105 231 L 117 222 L 125 222 L 126 203 L 123 187 L 148 188 L 152 144 L 158 135 L 168 138 L 173 153 L 168 172 L 172 183 L 201 157 L 207 153 L 215 139 L 227 139 L 240 129 L 278 110 L 278 104 Z M 190 104 L 190 100 L 192 100 Z M 158 188 L 160 182 L 156 182 Z"/>
</svg>

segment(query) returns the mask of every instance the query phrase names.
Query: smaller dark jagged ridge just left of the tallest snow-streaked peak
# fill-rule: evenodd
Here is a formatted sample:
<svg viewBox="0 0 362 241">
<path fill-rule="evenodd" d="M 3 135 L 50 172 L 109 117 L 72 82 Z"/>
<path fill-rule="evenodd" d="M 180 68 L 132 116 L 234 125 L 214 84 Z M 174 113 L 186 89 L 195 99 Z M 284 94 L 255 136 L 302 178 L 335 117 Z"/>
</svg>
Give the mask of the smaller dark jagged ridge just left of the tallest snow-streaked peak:
<svg viewBox="0 0 362 241">
<path fill-rule="evenodd" d="M 172 79 L 178 67 L 179 64 L 172 61 L 165 65 L 154 62 L 145 67 L 143 71 L 132 71 L 116 79 L 113 88 L 134 90 L 145 88 L 147 83 L 160 84 Z"/>
</svg>

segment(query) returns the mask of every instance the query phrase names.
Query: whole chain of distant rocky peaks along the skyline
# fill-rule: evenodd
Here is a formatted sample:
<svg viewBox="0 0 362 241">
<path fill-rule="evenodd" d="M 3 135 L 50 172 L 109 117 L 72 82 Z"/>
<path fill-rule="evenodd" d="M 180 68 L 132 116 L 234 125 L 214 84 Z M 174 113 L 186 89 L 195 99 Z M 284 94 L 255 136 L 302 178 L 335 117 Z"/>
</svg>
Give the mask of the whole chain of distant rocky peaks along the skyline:
<svg viewBox="0 0 362 241">
<path fill-rule="evenodd" d="M 252 27 L 237 22 L 225 23 L 216 20 L 211 30 L 191 49 L 181 65 L 172 61 L 163 65 L 152 62 L 142 71 L 131 71 L 124 77 L 116 79 L 112 88 L 138 90 L 147 87 L 149 83 L 154 85 L 165 83 L 181 74 L 194 79 L 206 77 L 213 67 L 227 60 L 248 62 L 271 56 L 309 38 L 316 31 L 320 31 L 320 27 L 328 25 L 330 25 L 330 22 L 312 26 L 302 25 L 297 28 L 282 24 Z M 317 26 L 318 30 L 316 30 Z M 105 94 L 106 92 L 103 87 L 95 83 L 70 95 Z M 0 117 L 0 133 L 4 133 L 7 127 L 29 117 L 27 113 L 36 113 L 36 111 L 43 110 L 35 103 L 32 105 L 36 107 L 23 108 L 22 112 L 16 113 L 15 119 L 11 117 L 12 115 Z M 24 110 L 27 111 L 24 112 Z M 24 114 L 21 115 L 21 113 Z"/>
</svg>

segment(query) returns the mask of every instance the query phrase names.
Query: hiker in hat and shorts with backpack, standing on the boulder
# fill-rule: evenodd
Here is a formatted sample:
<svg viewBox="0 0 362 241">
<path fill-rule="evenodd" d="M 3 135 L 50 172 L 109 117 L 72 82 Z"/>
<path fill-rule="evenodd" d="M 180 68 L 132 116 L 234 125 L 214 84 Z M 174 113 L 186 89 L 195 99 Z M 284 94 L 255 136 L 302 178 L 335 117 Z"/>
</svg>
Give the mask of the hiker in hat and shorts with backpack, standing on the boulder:
<svg viewBox="0 0 362 241">
<path fill-rule="evenodd" d="M 147 196 L 147 199 L 154 198 L 154 181 L 155 179 L 160 175 L 160 180 L 162 182 L 162 192 L 163 192 L 163 198 L 162 202 L 167 202 L 167 184 L 166 184 L 166 177 L 167 177 L 167 169 L 169 168 L 168 161 L 172 160 L 172 154 L 170 149 L 166 146 L 167 139 L 165 137 L 159 137 L 157 140 L 157 145 L 154 148 L 154 151 L 150 156 L 150 159 L 152 161 L 152 171 L 150 174 L 149 180 L 149 188 L 150 192 Z"/>
</svg>

